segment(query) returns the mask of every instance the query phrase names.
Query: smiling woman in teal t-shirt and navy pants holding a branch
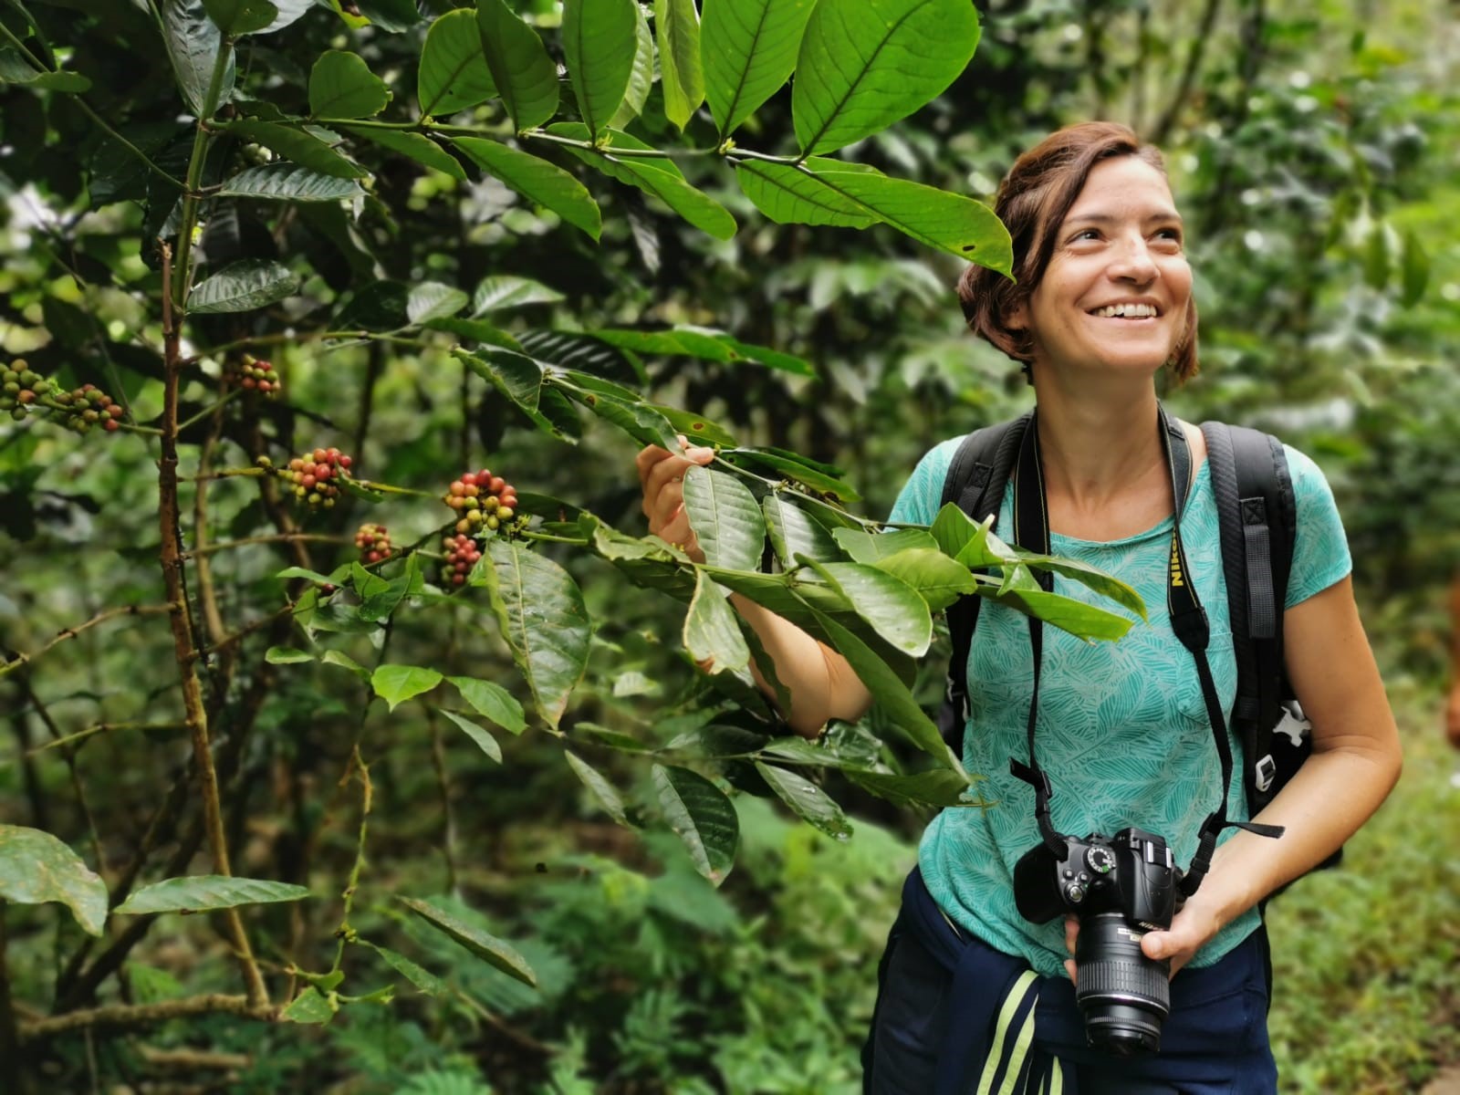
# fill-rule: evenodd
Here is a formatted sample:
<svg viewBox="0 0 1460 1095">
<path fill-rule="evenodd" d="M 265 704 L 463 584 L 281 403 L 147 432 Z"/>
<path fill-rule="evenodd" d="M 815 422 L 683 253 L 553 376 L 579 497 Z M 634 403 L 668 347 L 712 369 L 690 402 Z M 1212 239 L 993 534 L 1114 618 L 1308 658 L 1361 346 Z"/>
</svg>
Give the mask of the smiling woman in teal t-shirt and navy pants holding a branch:
<svg viewBox="0 0 1460 1095">
<path fill-rule="evenodd" d="M 1149 610 L 1117 644 L 1044 629 L 1037 737 L 1056 788 L 1054 823 L 1077 837 L 1136 825 L 1164 835 L 1186 866 L 1219 778 L 1203 692 L 1167 612 L 1174 502 L 1153 378 L 1171 368 L 1184 380 L 1197 365 L 1181 216 L 1159 153 L 1107 123 L 1060 130 L 1021 156 L 997 212 L 1013 238 L 1018 282 L 971 267 L 959 296 L 975 333 L 1019 361 L 1034 385 L 1053 550 L 1121 577 Z M 1206 445 L 1200 429 L 1178 425 L 1196 467 L 1181 539 L 1212 623 L 1207 657 L 1229 720 L 1235 661 Z M 956 445 L 921 460 L 889 520 L 931 521 Z M 650 529 L 695 558 L 679 482 L 708 457 L 701 448 L 638 457 Z M 981 790 L 997 804 L 943 810 L 923 837 L 879 971 L 866 1091 L 1276 1091 L 1257 904 L 1350 837 L 1400 768 L 1333 498 L 1307 457 L 1289 448 L 1288 463 L 1298 529 L 1286 669 L 1313 721 L 1314 752 L 1254 819 L 1285 835 L 1225 831 L 1169 929 L 1139 939 L 1145 956 L 1169 962 L 1172 974 L 1161 1053 L 1123 1060 L 1086 1045 L 1067 958 L 1077 923 L 1032 924 L 1015 905 L 1013 866 L 1040 842 L 1032 788 L 1007 774 L 1009 758 L 1025 753 L 1032 656 L 1025 618 L 986 603 L 968 660 L 964 762 L 988 777 Z M 1012 489 L 1002 530 L 1010 529 Z M 1073 584 L 1060 590 L 1082 596 Z M 791 696 L 784 714 L 799 733 L 863 714 L 869 694 L 844 658 L 759 606 L 734 603 L 775 658 Z M 1234 783 L 1228 802 L 1241 821 Z M 988 1088 L 977 1086 L 980 1077 Z"/>
</svg>

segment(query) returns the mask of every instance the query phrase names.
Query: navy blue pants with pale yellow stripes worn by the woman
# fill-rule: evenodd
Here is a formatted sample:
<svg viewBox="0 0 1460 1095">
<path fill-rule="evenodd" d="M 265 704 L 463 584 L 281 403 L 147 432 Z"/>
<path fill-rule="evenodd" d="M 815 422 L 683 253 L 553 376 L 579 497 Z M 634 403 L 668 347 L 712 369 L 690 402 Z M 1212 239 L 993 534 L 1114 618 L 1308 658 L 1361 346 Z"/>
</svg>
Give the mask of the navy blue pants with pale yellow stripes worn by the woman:
<svg viewBox="0 0 1460 1095">
<path fill-rule="evenodd" d="M 1067 977 L 1035 977 L 1022 959 L 955 929 L 914 869 L 877 968 L 863 1092 L 972 1095 L 990 1058 L 1006 1067 L 999 1054 L 1007 1060 L 1025 1013 L 1032 1013 L 1025 1060 L 1012 1066 L 1022 1069 L 1010 1073 L 1015 1092 L 1273 1095 L 1269 980 L 1266 931 L 1259 929 L 1215 965 L 1175 975 L 1161 1053 L 1115 1058 L 1086 1045 Z M 1023 1013 L 1013 999 L 1021 993 Z M 1051 1080 L 1056 1070 L 1058 1083 Z M 993 1091 L 1004 1079 L 997 1076 Z"/>
</svg>

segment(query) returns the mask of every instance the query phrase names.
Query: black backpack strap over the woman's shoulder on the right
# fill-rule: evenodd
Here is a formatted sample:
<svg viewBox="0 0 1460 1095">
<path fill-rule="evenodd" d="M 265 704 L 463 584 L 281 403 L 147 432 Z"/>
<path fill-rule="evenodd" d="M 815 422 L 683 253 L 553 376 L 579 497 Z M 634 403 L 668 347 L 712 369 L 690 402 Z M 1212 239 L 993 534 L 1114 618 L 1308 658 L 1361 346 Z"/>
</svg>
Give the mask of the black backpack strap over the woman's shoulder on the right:
<svg viewBox="0 0 1460 1095">
<path fill-rule="evenodd" d="M 1237 656 L 1232 727 L 1250 761 L 1266 755 L 1257 739 L 1270 734 L 1280 717 L 1285 689 L 1282 616 L 1292 569 L 1296 504 L 1288 456 L 1278 438 L 1221 422 L 1203 423 L 1202 432 L 1216 498 Z M 1242 783 L 1256 812 L 1270 797 L 1264 797 L 1267 787 L 1259 787 L 1264 783 L 1263 774 L 1248 762 Z"/>
</svg>

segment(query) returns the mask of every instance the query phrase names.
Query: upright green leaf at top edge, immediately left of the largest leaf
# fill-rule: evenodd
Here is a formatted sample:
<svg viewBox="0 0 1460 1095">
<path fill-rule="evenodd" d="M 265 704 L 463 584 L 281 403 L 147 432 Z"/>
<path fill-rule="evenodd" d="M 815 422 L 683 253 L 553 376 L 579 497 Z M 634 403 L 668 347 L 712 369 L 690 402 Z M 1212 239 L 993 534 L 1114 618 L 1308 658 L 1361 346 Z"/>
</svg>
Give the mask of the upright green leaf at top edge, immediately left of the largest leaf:
<svg viewBox="0 0 1460 1095">
<path fill-rule="evenodd" d="M 780 91 L 815 0 L 704 0 L 705 98 L 720 136 Z"/>
</svg>

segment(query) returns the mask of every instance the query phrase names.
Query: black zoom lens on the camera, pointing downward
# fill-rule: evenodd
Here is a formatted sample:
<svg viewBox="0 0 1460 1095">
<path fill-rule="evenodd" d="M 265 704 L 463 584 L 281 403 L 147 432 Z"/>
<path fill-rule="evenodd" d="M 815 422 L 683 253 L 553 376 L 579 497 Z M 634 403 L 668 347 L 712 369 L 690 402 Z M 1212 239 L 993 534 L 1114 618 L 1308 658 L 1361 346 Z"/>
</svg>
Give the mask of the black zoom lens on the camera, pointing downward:
<svg viewBox="0 0 1460 1095">
<path fill-rule="evenodd" d="M 1080 920 L 1075 946 L 1085 1037 L 1117 1057 L 1156 1053 L 1171 1013 L 1169 962 L 1146 958 L 1142 934 L 1120 912 L 1101 912 Z"/>
</svg>

